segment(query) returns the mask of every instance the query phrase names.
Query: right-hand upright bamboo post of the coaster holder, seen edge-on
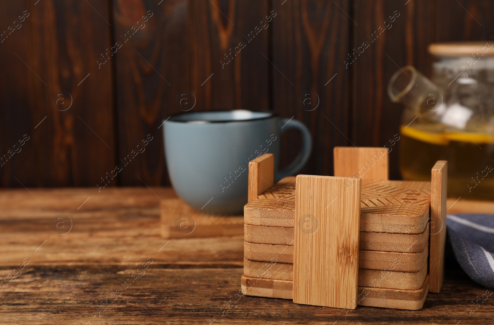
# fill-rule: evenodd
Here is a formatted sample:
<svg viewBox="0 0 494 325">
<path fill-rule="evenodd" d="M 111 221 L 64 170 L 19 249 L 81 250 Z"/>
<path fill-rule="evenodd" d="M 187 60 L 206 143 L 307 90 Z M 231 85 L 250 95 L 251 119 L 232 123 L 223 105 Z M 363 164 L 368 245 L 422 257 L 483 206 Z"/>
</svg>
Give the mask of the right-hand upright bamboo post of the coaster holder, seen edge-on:
<svg viewBox="0 0 494 325">
<path fill-rule="evenodd" d="M 429 275 L 431 292 L 439 293 L 444 279 L 444 248 L 446 244 L 446 196 L 448 195 L 448 162 L 439 160 L 432 167 L 431 227 Z"/>
</svg>

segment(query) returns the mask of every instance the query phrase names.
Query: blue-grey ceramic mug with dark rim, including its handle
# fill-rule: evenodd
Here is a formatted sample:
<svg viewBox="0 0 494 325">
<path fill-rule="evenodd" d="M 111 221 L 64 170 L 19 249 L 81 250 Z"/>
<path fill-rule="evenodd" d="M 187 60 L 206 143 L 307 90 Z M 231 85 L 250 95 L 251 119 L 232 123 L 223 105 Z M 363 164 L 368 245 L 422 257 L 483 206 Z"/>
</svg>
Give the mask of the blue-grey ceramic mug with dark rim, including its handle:
<svg viewBox="0 0 494 325">
<path fill-rule="evenodd" d="M 181 113 L 163 128 L 166 165 L 178 196 L 208 214 L 242 214 L 247 204 L 248 162 L 263 153 L 275 157 L 275 181 L 295 174 L 312 149 L 301 122 L 273 112 L 248 110 Z M 278 171 L 281 134 L 302 133 L 302 148 L 293 162 Z"/>
</svg>

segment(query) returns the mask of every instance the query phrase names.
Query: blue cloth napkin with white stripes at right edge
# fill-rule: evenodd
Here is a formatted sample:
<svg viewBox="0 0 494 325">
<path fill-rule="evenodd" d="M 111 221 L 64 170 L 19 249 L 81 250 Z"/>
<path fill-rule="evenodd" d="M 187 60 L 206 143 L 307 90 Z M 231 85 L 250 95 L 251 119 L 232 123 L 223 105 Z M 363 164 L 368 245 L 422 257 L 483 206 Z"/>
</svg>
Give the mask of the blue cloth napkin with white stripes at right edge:
<svg viewBox="0 0 494 325">
<path fill-rule="evenodd" d="M 475 282 L 494 288 L 494 215 L 449 214 L 447 226 L 463 271 Z"/>
</svg>

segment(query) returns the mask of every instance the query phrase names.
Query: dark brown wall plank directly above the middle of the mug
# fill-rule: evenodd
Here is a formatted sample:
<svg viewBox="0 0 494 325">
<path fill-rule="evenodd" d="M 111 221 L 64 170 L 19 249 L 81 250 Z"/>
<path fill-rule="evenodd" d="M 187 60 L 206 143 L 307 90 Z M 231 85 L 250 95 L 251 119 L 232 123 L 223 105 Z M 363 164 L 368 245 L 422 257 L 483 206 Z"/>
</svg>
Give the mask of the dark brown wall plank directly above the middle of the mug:
<svg viewBox="0 0 494 325">
<path fill-rule="evenodd" d="M 261 52 L 268 55 L 269 29 L 278 17 L 270 15 L 268 2 L 211 0 L 189 5 L 190 78 L 197 109 L 269 109 L 270 63 Z"/>
</svg>

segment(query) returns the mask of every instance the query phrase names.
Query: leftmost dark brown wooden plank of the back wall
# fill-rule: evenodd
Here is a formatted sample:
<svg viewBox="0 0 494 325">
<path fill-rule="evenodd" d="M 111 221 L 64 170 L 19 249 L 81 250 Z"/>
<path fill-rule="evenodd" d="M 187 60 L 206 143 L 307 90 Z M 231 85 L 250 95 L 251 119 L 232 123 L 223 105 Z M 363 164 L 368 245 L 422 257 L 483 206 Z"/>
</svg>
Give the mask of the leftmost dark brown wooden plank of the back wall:
<svg viewBox="0 0 494 325">
<path fill-rule="evenodd" d="M 0 186 L 95 186 L 115 169 L 112 68 L 96 62 L 110 16 L 108 1 L 0 3 Z"/>
</svg>

